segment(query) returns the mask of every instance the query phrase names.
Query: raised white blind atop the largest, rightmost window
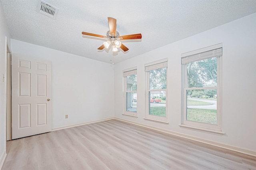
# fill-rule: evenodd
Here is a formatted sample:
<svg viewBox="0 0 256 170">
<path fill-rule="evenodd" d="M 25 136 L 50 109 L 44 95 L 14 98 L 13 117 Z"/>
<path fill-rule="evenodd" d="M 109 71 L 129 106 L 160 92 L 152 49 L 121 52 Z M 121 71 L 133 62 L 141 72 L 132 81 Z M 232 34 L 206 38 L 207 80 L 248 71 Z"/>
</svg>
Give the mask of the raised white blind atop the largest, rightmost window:
<svg viewBox="0 0 256 170">
<path fill-rule="evenodd" d="M 220 56 L 222 56 L 222 48 L 182 57 L 181 64 L 187 64 L 195 61 L 200 61 L 200 60 L 209 59 L 212 57 L 220 57 Z"/>
</svg>

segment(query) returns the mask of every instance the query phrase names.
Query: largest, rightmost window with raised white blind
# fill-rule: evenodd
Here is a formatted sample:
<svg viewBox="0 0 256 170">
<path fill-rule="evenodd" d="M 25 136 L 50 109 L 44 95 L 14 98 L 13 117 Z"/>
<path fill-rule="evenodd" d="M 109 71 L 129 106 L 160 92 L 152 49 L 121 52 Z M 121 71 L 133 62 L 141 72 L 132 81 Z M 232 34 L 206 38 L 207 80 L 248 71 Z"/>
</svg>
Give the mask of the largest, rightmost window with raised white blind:
<svg viewBox="0 0 256 170">
<path fill-rule="evenodd" d="M 221 57 L 222 44 L 182 54 L 184 127 L 221 131 Z"/>
</svg>

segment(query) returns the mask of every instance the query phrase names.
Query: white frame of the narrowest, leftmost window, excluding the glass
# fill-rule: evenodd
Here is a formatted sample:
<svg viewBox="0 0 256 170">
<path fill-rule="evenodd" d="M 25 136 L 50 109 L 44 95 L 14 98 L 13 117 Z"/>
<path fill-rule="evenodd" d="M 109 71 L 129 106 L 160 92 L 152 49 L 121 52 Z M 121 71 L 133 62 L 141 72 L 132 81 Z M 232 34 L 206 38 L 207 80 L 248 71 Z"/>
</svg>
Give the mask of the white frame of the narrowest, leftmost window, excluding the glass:
<svg viewBox="0 0 256 170">
<path fill-rule="evenodd" d="M 129 90 L 129 91 L 127 90 L 127 76 L 134 75 L 134 74 L 137 74 L 137 66 L 123 70 L 123 78 L 124 78 L 124 81 L 123 81 L 124 82 L 124 95 L 123 95 L 124 96 L 124 107 L 123 107 L 122 115 L 130 116 L 130 117 L 138 117 L 137 116 L 138 104 L 137 104 L 136 112 L 127 111 L 127 109 L 126 109 L 126 106 L 127 106 L 126 93 L 129 93 L 129 92 L 136 92 L 137 93 L 137 90 L 138 90 L 138 82 L 137 82 L 137 90 Z M 137 78 L 137 81 L 138 81 L 138 78 Z M 137 98 L 137 103 L 138 103 L 138 98 Z"/>
</svg>

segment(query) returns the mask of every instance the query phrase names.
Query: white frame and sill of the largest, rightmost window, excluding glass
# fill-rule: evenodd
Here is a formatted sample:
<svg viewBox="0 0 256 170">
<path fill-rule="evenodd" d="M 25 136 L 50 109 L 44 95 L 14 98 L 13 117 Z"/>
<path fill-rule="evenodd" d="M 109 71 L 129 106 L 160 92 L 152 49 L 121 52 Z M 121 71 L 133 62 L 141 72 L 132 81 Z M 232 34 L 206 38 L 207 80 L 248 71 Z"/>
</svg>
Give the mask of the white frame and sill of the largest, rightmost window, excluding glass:
<svg viewBox="0 0 256 170">
<path fill-rule="evenodd" d="M 188 57 L 190 55 L 196 55 L 200 53 L 204 53 L 206 51 L 211 51 L 215 49 L 220 49 L 222 48 L 222 43 L 217 44 L 217 45 L 212 45 L 210 47 L 198 49 L 195 51 L 191 51 L 188 53 L 182 54 L 183 57 Z M 186 128 L 186 129 L 192 129 L 196 131 L 202 131 L 206 133 L 212 133 L 215 135 L 223 135 L 224 132 L 222 131 L 222 91 L 221 91 L 221 86 L 222 86 L 222 54 L 217 57 L 217 86 L 211 86 L 211 87 L 194 87 L 194 88 L 188 88 L 187 87 L 187 64 L 195 62 L 195 61 L 202 61 L 204 59 L 200 60 L 195 60 L 195 61 L 190 61 L 188 63 L 182 64 L 182 120 L 180 127 Z M 210 57 L 213 58 L 213 57 Z M 186 119 L 186 107 L 187 107 L 187 94 L 186 90 L 205 90 L 205 89 L 216 89 L 217 90 L 217 122 L 216 125 L 214 124 L 208 124 L 208 123 L 202 123 L 202 122 L 196 122 L 196 121 L 188 121 Z"/>
</svg>

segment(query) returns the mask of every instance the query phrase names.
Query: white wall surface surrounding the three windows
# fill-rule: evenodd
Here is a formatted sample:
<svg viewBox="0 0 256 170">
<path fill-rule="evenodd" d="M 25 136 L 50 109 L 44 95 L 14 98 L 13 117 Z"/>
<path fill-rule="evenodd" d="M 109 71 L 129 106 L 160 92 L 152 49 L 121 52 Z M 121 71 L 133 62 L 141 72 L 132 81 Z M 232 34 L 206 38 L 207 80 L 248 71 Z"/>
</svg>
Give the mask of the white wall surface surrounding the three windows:
<svg viewBox="0 0 256 170">
<path fill-rule="evenodd" d="M 256 151 L 256 13 L 115 64 L 115 117 L 175 133 Z M 143 41 L 143 39 L 142 39 Z M 157 43 L 157 39 L 155 40 Z M 223 136 L 179 127 L 181 123 L 181 54 L 223 43 Z M 144 120 L 144 64 L 168 57 L 169 125 Z M 137 66 L 138 118 L 123 116 L 122 70 Z"/>
</svg>

